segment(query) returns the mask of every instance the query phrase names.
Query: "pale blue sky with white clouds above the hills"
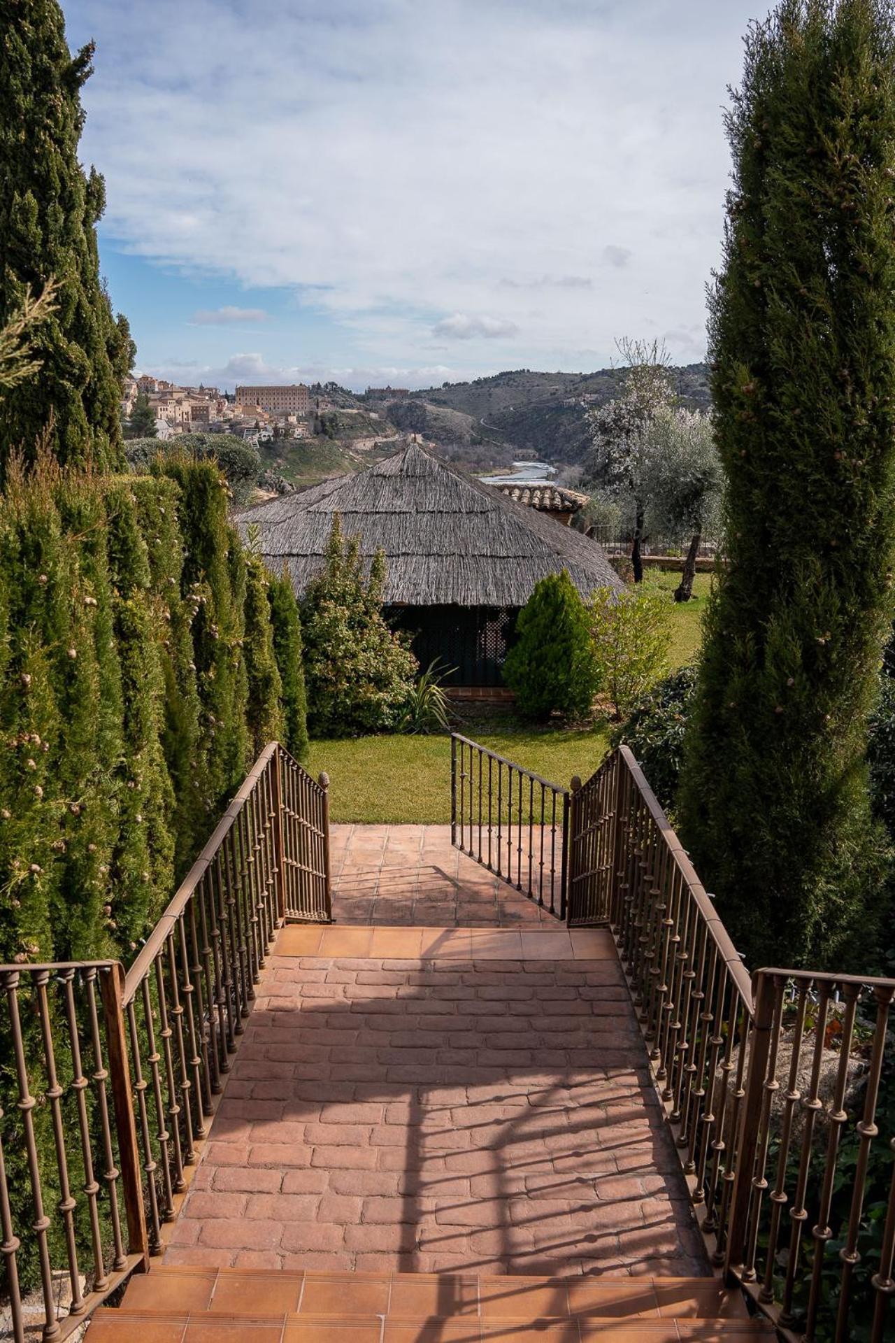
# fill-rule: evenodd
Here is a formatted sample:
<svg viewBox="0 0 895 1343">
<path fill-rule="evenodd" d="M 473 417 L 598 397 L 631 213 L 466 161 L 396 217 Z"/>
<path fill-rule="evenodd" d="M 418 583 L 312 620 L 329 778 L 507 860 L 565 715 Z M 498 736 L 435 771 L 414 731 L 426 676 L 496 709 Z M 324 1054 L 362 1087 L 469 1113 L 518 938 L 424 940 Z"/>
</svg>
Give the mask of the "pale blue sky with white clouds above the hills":
<svg viewBox="0 0 895 1343">
<path fill-rule="evenodd" d="M 137 369 L 428 387 L 704 353 L 749 0 L 63 0 Z"/>
</svg>

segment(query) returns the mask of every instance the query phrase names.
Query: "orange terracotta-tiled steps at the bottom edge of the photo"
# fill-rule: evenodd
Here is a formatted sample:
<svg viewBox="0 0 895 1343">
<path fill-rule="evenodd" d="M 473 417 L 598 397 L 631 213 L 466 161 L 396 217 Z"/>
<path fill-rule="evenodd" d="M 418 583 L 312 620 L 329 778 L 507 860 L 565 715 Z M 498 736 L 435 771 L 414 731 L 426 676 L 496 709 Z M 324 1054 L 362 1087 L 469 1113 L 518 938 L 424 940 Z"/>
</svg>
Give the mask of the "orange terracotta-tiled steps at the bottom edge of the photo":
<svg viewBox="0 0 895 1343">
<path fill-rule="evenodd" d="M 715 1279 L 153 1266 L 87 1343 L 735 1343 L 773 1338 Z"/>
</svg>

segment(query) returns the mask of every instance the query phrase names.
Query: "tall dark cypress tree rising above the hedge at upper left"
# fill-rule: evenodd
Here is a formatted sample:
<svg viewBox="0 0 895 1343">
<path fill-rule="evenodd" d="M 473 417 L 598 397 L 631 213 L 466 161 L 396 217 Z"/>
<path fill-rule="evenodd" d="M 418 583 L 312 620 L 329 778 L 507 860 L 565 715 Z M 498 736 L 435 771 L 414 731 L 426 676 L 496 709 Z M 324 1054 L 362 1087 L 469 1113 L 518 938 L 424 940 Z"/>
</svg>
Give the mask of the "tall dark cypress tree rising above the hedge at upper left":
<svg viewBox="0 0 895 1343">
<path fill-rule="evenodd" d="M 123 318 L 99 278 L 102 177 L 78 163 L 81 87 L 93 44 L 68 51 L 56 0 L 0 0 L 0 326 L 55 277 L 55 310 L 36 325 L 40 377 L 0 403 L 0 471 L 50 431 L 62 462 L 122 462 L 121 381 L 133 363 Z"/>
</svg>

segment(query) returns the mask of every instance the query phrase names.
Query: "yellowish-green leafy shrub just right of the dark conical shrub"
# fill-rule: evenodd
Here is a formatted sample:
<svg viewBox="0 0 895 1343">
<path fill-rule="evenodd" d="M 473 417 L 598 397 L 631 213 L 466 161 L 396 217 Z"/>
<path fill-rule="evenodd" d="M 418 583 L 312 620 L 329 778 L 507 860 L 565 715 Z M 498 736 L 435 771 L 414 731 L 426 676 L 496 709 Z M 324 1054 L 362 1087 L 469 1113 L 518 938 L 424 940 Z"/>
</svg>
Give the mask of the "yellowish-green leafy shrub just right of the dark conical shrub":
<svg viewBox="0 0 895 1343">
<path fill-rule="evenodd" d="M 597 588 L 590 604 L 593 662 L 600 692 L 616 719 L 624 719 L 637 700 L 668 669 L 671 602 L 659 588 Z"/>
</svg>

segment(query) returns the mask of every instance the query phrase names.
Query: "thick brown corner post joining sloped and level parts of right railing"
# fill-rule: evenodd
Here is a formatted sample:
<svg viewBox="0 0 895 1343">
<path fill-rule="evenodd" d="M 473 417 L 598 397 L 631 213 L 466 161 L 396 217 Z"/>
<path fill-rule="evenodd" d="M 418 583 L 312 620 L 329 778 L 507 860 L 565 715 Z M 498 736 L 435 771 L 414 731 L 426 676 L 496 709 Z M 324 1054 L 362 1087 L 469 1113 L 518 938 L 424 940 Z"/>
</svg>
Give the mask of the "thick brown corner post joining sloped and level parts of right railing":
<svg viewBox="0 0 895 1343">
<path fill-rule="evenodd" d="M 725 1277 L 727 1281 L 735 1279 L 734 1269 L 743 1262 L 746 1250 L 746 1234 L 749 1230 L 749 1213 L 753 1202 L 753 1175 L 758 1143 L 761 1140 L 759 1127 L 764 1109 L 765 1078 L 768 1073 L 768 1060 L 772 1049 L 772 1033 L 774 1025 L 774 1001 L 777 986 L 774 980 L 761 970 L 755 974 L 754 983 L 754 1017 L 751 1039 L 749 1045 L 749 1058 L 746 1061 L 746 1095 L 743 1097 L 739 1116 L 739 1138 L 737 1140 L 737 1171 L 734 1178 L 734 1194 L 729 1214 L 727 1253 L 725 1257 Z"/>
</svg>

